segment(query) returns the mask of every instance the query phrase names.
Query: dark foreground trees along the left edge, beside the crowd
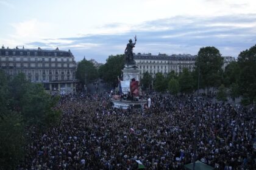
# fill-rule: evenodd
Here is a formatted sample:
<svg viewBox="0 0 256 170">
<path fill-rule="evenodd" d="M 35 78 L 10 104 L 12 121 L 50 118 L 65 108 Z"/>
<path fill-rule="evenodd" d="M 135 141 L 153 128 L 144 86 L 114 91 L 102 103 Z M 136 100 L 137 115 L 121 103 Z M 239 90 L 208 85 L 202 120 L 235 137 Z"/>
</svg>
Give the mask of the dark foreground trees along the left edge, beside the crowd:
<svg viewBox="0 0 256 170">
<path fill-rule="evenodd" d="M 23 73 L 8 81 L 0 69 L 0 169 L 15 169 L 23 159 L 30 127 L 59 122 L 61 113 L 54 109 L 58 100 L 41 84 L 27 81 Z"/>
</svg>

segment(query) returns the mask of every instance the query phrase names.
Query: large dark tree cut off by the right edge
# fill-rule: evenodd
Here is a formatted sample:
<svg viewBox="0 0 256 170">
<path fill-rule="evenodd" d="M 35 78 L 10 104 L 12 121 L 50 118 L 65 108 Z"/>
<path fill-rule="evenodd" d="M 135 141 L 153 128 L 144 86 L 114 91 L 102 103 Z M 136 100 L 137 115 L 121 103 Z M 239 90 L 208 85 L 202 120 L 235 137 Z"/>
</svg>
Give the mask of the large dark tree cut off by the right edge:
<svg viewBox="0 0 256 170">
<path fill-rule="evenodd" d="M 238 85 L 241 94 L 249 100 L 249 103 L 253 103 L 256 97 L 256 45 L 240 53 L 238 66 L 240 67 Z"/>
</svg>

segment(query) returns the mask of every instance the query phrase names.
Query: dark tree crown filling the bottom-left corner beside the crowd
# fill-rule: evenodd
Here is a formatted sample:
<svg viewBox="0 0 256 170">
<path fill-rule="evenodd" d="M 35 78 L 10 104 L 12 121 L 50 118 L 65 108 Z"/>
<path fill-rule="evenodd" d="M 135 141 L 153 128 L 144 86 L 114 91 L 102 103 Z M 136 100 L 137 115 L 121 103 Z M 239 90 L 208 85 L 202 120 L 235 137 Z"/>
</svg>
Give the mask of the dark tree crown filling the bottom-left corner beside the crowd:
<svg viewBox="0 0 256 170">
<path fill-rule="evenodd" d="M 24 124 L 20 114 L 0 114 L 0 169 L 15 169 L 24 156 Z"/>
</svg>

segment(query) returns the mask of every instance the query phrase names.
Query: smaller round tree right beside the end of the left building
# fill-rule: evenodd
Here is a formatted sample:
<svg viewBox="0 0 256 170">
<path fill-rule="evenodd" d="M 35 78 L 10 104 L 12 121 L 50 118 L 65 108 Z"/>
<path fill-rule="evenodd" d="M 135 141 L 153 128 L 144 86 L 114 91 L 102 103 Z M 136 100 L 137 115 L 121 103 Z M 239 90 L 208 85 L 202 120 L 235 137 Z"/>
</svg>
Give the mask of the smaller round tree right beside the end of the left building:
<svg viewBox="0 0 256 170">
<path fill-rule="evenodd" d="M 77 65 L 76 78 L 80 83 L 87 84 L 98 78 L 98 71 L 93 63 L 84 59 Z"/>
</svg>

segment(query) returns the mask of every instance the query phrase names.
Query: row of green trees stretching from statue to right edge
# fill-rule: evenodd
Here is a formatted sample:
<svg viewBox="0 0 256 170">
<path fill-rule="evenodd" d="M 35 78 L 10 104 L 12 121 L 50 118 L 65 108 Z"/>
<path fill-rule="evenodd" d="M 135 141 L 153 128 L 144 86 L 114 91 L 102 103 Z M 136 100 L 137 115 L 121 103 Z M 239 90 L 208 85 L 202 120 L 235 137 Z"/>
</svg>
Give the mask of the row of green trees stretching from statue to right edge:
<svg viewBox="0 0 256 170">
<path fill-rule="evenodd" d="M 168 90 L 173 95 L 190 94 L 198 87 L 207 89 L 207 92 L 210 87 L 219 88 L 219 100 L 226 100 L 226 89 L 229 89 L 233 100 L 242 96 L 244 104 L 256 101 L 256 45 L 241 52 L 238 61 L 230 63 L 225 71 L 222 70 L 223 62 L 218 49 L 203 47 L 197 54 L 193 72 L 184 68 L 179 75 L 170 72 L 166 77 L 157 73 L 154 80 L 146 72 L 141 84 L 148 88 L 154 82 L 153 87 L 157 92 Z"/>
</svg>

